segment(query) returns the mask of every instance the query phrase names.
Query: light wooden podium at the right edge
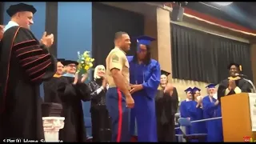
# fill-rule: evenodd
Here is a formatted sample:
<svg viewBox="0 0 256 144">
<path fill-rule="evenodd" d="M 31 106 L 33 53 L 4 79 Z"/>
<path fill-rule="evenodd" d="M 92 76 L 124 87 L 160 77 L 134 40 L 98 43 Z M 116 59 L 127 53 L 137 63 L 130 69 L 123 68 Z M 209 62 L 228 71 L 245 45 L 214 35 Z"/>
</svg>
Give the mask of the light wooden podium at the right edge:
<svg viewBox="0 0 256 144">
<path fill-rule="evenodd" d="M 244 142 L 244 137 L 255 140 L 250 118 L 249 94 L 233 94 L 221 98 L 224 142 Z"/>
</svg>

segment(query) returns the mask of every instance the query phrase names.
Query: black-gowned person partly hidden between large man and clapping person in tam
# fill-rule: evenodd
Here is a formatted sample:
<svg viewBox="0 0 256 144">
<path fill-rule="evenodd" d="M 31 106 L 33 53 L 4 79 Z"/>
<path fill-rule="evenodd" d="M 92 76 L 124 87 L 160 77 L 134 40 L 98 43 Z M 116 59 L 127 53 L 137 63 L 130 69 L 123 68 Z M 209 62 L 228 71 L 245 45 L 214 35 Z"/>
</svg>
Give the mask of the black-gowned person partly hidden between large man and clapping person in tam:
<svg viewBox="0 0 256 144">
<path fill-rule="evenodd" d="M 61 99 L 58 98 L 57 93 L 57 85 L 60 77 L 62 77 L 63 74 L 63 64 L 64 58 L 58 58 L 57 62 L 57 71 L 54 74 L 53 78 L 50 78 L 50 80 L 43 82 L 43 90 L 44 90 L 44 102 L 56 102 L 56 103 L 62 103 Z"/>
</svg>

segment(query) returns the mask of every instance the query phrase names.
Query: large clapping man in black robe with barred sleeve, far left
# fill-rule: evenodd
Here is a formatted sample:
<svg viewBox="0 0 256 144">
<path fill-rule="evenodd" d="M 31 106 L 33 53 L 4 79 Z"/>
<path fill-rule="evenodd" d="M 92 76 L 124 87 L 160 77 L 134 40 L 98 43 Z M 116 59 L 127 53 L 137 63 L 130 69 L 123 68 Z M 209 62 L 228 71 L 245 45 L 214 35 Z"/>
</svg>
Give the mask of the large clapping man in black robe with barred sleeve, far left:
<svg viewBox="0 0 256 144">
<path fill-rule="evenodd" d="M 41 42 L 29 30 L 33 24 L 34 6 L 12 5 L 7 10 L 12 26 L 5 31 L 0 48 L 0 140 L 3 138 L 44 139 L 40 84 L 52 78 L 56 59 L 48 48 L 52 34 Z"/>
</svg>

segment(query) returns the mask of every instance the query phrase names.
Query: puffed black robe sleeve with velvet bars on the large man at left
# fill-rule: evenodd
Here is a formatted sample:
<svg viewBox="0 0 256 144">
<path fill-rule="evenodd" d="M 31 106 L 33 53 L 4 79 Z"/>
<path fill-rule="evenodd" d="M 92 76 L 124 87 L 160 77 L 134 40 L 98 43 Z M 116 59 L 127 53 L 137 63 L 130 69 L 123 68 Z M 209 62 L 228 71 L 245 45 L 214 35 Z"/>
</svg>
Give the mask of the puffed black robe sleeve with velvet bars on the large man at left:
<svg viewBox="0 0 256 144">
<path fill-rule="evenodd" d="M 42 49 L 31 31 L 25 28 L 19 27 L 14 38 L 13 51 L 31 82 L 42 78 L 52 64 L 49 52 Z"/>
</svg>

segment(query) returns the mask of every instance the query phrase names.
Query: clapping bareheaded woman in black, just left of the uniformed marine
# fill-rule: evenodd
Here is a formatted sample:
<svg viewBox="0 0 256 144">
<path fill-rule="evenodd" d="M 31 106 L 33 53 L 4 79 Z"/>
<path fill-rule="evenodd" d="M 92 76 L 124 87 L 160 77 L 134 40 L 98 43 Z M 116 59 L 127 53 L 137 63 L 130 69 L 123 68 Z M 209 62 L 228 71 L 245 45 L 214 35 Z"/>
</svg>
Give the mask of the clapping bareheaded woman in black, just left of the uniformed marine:
<svg viewBox="0 0 256 144">
<path fill-rule="evenodd" d="M 111 141 L 110 118 L 106 110 L 106 90 L 108 85 L 105 72 L 105 66 L 96 66 L 94 79 L 88 84 L 91 97 L 90 114 L 93 142 Z"/>
</svg>

